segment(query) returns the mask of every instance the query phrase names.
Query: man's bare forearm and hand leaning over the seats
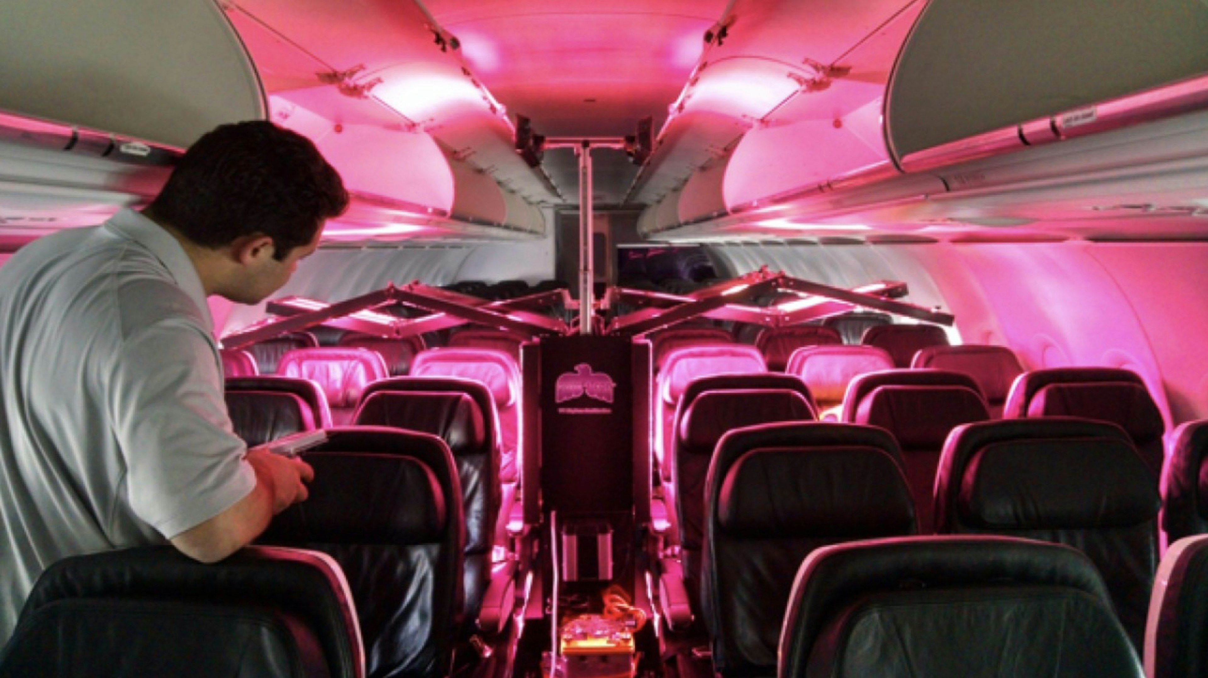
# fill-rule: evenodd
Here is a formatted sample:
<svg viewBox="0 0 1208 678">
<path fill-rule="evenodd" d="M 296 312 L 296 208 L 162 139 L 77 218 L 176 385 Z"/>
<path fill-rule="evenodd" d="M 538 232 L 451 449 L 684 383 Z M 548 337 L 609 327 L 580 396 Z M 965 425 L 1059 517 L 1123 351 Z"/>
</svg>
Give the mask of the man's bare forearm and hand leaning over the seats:
<svg viewBox="0 0 1208 678">
<path fill-rule="evenodd" d="M 307 498 L 304 482 L 314 480 L 314 469 L 306 462 L 262 447 L 249 450 L 245 459 L 256 471 L 256 486 L 221 514 L 173 537 L 180 552 L 204 563 L 221 561 L 259 537 L 274 515 Z"/>
</svg>

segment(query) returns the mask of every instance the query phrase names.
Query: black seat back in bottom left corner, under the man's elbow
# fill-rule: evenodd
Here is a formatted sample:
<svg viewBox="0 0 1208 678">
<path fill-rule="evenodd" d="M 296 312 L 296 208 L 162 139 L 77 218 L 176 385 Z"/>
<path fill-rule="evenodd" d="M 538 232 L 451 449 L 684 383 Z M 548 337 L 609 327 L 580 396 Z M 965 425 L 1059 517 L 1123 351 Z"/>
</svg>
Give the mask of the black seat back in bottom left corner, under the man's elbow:
<svg viewBox="0 0 1208 678">
<path fill-rule="evenodd" d="M 352 596 L 330 557 L 246 547 L 203 564 L 172 546 L 53 563 L 0 676 L 365 676 Z"/>
</svg>

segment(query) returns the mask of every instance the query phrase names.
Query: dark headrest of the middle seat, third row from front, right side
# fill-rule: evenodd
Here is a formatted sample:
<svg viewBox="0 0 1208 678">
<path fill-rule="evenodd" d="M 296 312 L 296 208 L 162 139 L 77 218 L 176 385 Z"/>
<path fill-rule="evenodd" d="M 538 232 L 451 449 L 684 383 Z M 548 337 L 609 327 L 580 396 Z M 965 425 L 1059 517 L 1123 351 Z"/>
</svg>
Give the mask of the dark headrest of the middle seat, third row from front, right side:
<svg viewBox="0 0 1208 678">
<path fill-rule="evenodd" d="M 966 387 L 883 386 L 860 402 L 853 421 L 887 429 L 908 450 L 940 450 L 960 424 L 989 419 L 981 395 Z"/>
</svg>

